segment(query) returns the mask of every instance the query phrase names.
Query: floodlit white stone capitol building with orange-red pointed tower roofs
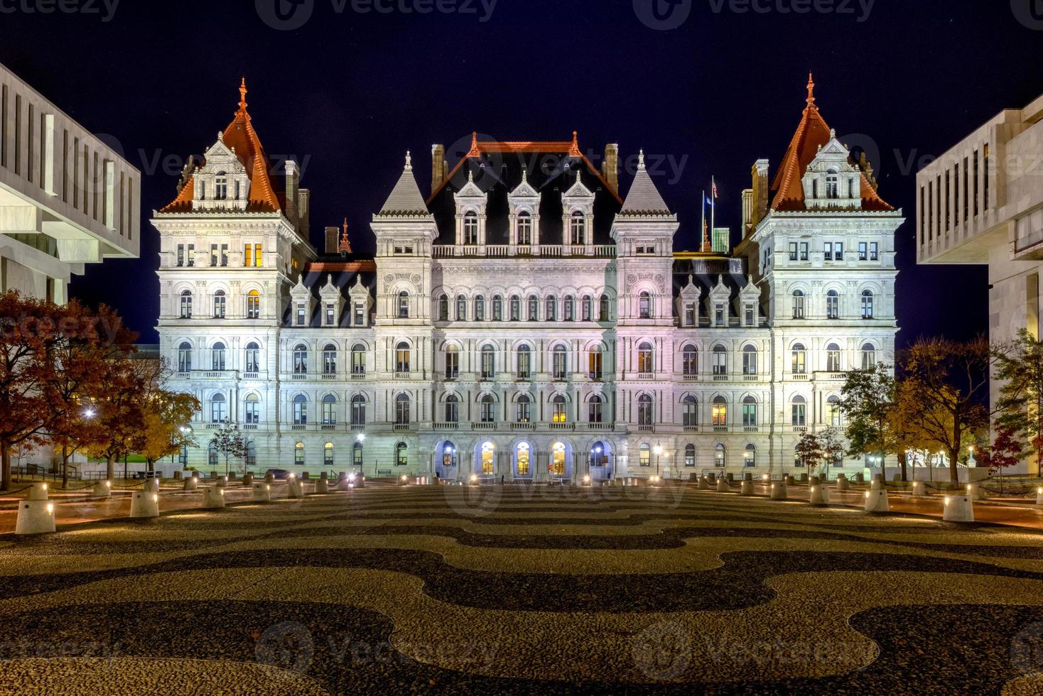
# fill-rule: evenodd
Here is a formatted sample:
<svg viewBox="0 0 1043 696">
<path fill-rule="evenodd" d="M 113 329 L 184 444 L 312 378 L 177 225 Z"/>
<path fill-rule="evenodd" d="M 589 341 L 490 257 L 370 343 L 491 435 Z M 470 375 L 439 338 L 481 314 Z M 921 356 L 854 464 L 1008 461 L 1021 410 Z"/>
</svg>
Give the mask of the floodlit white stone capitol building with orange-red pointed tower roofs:
<svg viewBox="0 0 1043 696">
<path fill-rule="evenodd" d="M 161 351 L 202 404 L 187 466 L 223 469 L 209 443 L 229 420 L 260 471 L 791 471 L 805 432 L 842 428 L 844 373 L 893 361 L 902 214 L 814 82 L 774 172 L 753 165 L 741 242 L 688 232 L 692 252 L 675 235 L 700 223 L 671 212 L 644 156 L 621 182 L 618 147 L 596 166 L 575 133 L 476 136 L 456 163 L 435 145 L 430 168 L 389 152 L 402 176 L 369 223 L 375 256 L 353 252 L 346 222 L 316 248 L 299 168 L 272 173 L 240 95 L 151 220 Z"/>
</svg>

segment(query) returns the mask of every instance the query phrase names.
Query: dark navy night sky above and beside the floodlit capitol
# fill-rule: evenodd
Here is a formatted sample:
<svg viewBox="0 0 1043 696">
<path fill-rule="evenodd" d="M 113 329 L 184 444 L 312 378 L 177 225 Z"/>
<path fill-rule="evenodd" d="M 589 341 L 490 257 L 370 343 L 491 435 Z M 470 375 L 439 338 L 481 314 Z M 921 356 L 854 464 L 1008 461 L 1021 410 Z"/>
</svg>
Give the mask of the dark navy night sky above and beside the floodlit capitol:
<svg viewBox="0 0 1043 696">
<path fill-rule="evenodd" d="M 273 27 L 276 1 L 295 10 L 282 26 L 307 21 Z M 916 265 L 915 177 L 930 155 L 1043 93 L 1035 0 L 819 1 L 832 11 L 810 0 L 755 0 L 766 13 L 733 11 L 749 0 L 122 0 L 111 13 L 82 0 L 83 11 L 42 14 L 25 11 L 41 0 L 2 0 L 0 61 L 142 170 L 141 258 L 89 267 L 72 294 L 114 305 L 146 343 L 159 305 L 148 219 L 174 197 L 184 158 L 227 125 L 241 75 L 269 155 L 304 166 L 317 246 L 346 216 L 355 249 L 372 250 L 368 221 L 407 149 L 427 194 L 433 143 L 578 130 L 584 151 L 616 142 L 631 157 L 624 193 L 638 148 L 661 163 L 652 173 L 680 216 L 682 250 L 697 244 L 711 175 L 718 223 L 737 234 L 750 167 L 767 157 L 774 175 L 814 71 L 826 121 L 866 148 L 881 196 L 908 220 L 899 342 L 986 331 L 984 268 Z M 780 11 L 802 2 L 810 13 Z M 353 9 L 374 3 L 393 11 Z"/>
</svg>

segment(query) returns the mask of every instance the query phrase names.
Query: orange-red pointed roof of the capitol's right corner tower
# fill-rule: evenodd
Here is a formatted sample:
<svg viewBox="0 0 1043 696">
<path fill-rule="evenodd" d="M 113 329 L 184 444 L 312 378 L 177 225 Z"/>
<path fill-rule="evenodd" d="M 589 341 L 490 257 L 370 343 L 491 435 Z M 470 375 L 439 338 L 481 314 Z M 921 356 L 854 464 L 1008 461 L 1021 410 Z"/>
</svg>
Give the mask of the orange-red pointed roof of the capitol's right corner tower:
<svg viewBox="0 0 1043 696">
<path fill-rule="evenodd" d="M 804 116 L 797 126 L 797 132 L 790 141 L 790 147 L 782 156 L 782 165 L 775 180 L 772 182 L 772 191 L 775 198 L 772 200 L 772 209 L 780 212 L 804 210 L 804 187 L 801 179 L 808 165 L 819 153 L 819 148 L 825 147 L 829 143 L 831 131 L 826 125 L 826 120 L 819 113 L 819 107 L 815 103 L 815 80 L 811 75 L 807 76 L 807 106 L 804 107 Z M 862 174 L 862 207 L 864 210 L 888 212 L 894 210 L 894 206 L 884 201 L 876 193 L 876 189 Z"/>
</svg>

